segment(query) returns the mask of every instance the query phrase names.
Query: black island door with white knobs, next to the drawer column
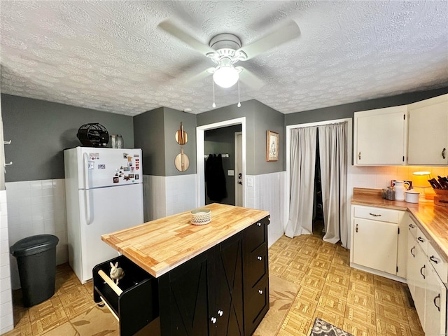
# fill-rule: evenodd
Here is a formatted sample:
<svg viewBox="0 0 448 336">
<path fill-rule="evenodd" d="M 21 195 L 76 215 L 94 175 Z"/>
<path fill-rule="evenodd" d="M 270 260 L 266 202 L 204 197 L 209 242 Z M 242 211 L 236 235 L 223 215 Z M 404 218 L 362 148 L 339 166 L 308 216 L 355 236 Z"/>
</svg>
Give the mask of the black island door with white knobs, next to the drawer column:
<svg viewBox="0 0 448 336">
<path fill-rule="evenodd" d="M 209 250 L 209 335 L 244 336 L 242 234 Z"/>
</svg>

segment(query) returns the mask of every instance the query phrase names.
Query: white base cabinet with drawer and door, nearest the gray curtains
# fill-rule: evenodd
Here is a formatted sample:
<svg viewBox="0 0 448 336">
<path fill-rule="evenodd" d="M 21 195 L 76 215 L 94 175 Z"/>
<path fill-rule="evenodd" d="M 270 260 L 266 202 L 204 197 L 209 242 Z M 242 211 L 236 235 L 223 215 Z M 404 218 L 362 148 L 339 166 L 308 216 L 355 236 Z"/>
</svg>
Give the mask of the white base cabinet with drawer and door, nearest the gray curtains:
<svg viewBox="0 0 448 336">
<path fill-rule="evenodd" d="M 407 230 L 403 230 L 404 218 L 407 218 L 405 211 L 353 206 L 351 266 L 392 279 L 397 276 L 405 279 Z"/>
</svg>

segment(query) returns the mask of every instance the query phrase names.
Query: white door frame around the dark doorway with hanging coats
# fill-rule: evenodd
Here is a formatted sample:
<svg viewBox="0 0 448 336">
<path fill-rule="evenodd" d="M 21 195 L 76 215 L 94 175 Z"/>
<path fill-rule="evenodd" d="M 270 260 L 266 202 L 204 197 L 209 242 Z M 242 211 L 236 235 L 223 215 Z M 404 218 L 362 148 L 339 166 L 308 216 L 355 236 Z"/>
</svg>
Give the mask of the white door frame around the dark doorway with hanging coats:
<svg viewBox="0 0 448 336">
<path fill-rule="evenodd" d="M 196 168 L 197 168 L 197 204 L 198 207 L 205 205 L 205 162 L 204 162 L 204 132 L 208 130 L 215 130 L 216 128 L 223 128 L 233 125 L 241 125 L 242 135 L 242 177 L 245 181 L 246 176 L 246 117 L 235 118 L 209 125 L 202 125 L 196 127 Z M 246 207 L 246 183 L 243 183 L 243 207 Z"/>
</svg>

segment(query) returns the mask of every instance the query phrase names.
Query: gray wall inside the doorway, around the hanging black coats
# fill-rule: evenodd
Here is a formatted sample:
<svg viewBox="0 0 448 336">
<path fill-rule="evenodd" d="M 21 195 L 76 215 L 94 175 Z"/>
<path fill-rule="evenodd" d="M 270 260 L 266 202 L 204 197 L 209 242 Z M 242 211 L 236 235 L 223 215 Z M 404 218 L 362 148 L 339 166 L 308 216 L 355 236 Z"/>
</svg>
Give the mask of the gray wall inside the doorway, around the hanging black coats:
<svg viewBox="0 0 448 336">
<path fill-rule="evenodd" d="M 205 154 L 229 155 L 229 158 L 223 158 L 227 197 L 221 200 L 220 203 L 230 205 L 235 205 L 235 176 L 228 176 L 228 170 L 235 170 L 235 132 L 241 132 L 241 125 L 222 127 L 204 132 Z M 213 201 L 207 196 L 207 186 L 205 195 L 205 204 L 212 203 Z"/>
</svg>

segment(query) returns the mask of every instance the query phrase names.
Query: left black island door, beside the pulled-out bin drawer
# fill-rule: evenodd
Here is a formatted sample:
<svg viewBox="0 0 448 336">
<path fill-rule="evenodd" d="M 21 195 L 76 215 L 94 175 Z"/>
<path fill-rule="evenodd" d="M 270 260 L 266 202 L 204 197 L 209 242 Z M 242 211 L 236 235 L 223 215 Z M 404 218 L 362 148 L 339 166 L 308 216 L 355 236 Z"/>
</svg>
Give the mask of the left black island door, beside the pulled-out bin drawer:
<svg viewBox="0 0 448 336">
<path fill-rule="evenodd" d="M 207 251 L 159 278 L 161 336 L 209 335 Z"/>
</svg>

